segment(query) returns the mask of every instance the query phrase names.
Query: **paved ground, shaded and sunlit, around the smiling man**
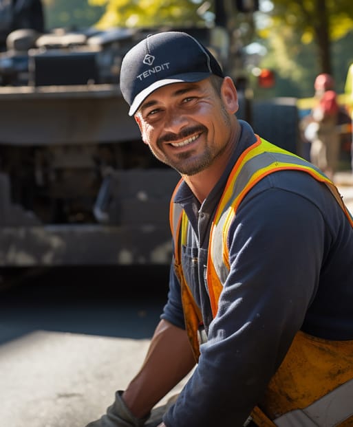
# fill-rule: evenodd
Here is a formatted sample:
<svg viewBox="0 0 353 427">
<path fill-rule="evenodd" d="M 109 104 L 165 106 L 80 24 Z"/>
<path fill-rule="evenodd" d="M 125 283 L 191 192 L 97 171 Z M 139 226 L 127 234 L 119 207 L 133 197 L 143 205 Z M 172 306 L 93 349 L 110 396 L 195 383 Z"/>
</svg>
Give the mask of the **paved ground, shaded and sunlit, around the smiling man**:
<svg viewBox="0 0 353 427">
<path fill-rule="evenodd" d="M 353 175 L 335 182 L 353 213 Z M 166 272 L 54 270 L 3 292 L 0 426 L 84 427 L 104 413 L 145 356 L 164 281 Z"/>
</svg>

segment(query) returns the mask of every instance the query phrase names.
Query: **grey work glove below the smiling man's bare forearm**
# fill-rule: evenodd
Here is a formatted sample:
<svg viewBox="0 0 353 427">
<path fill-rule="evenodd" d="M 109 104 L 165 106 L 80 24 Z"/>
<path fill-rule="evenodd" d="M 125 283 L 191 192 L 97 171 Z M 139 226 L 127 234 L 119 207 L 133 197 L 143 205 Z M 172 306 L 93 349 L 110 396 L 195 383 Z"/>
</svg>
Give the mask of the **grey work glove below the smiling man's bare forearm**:
<svg viewBox="0 0 353 427">
<path fill-rule="evenodd" d="M 115 402 L 107 408 L 107 413 L 86 427 L 142 427 L 149 414 L 144 418 L 136 418 L 125 405 L 121 395 L 122 391 L 117 391 Z"/>
</svg>

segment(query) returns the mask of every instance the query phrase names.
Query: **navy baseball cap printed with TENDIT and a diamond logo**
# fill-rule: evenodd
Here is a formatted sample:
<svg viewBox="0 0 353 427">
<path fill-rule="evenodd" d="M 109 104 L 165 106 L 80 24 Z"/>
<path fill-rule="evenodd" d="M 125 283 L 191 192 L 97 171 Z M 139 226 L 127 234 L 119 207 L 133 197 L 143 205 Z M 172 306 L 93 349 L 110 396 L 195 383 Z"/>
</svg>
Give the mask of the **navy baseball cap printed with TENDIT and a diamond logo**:
<svg viewBox="0 0 353 427">
<path fill-rule="evenodd" d="M 147 36 L 122 59 L 120 89 L 133 116 L 156 89 L 199 82 L 212 74 L 224 77 L 220 64 L 199 41 L 185 32 L 160 32 Z"/>
</svg>

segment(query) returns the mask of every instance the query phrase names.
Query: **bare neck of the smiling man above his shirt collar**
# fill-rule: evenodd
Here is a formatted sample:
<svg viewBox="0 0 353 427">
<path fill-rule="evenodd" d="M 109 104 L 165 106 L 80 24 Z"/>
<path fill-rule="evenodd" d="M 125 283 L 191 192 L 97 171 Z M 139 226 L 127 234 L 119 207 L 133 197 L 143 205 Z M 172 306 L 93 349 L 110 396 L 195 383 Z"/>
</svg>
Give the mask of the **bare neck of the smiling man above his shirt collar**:
<svg viewBox="0 0 353 427">
<path fill-rule="evenodd" d="M 222 176 L 224 169 L 226 168 L 226 165 L 231 158 L 235 145 L 237 144 L 239 135 L 240 125 L 237 122 L 237 126 L 234 127 L 231 133 L 231 138 L 228 140 L 226 149 L 219 157 L 215 159 L 211 166 L 208 166 L 208 168 L 204 169 L 204 171 L 201 171 L 195 175 L 182 175 L 182 178 L 191 188 L 191 191 L 201 204 L 209 195 L 209 193 L 211 193 L 211 190 L 215 184 L 217 184 L 217 182 L 220 180 L 220 177 Z"/>
</svg>

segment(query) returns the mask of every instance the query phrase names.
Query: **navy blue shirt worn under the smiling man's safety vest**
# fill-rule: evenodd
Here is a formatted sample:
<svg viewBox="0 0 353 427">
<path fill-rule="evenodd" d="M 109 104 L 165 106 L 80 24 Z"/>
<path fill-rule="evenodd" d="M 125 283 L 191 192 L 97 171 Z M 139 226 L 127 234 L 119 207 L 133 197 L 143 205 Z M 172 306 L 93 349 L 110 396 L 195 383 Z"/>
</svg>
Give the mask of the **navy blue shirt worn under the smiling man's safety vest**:
<svg viewBox="0 0 353 427">
<path fill-rule="evenodd" d="M 229 230 L 231 270 L 213 319 L 205 281 L 211 219 L 233 165 L 255 142 L 240 123 L 233 156 L 204 203 L 184 183 L 175 195 L 192 227 L 184 271 L 208 341 L 164 415 L 167 427 L 241 427 L 297 331 L 353 339 L 353 230 L 325 184 L 299 171 L 268 175 L 240 204 Z M 161 317 L 184 328 L 180 284 L 173 270 L 170 277 Z"/>
</svg>

